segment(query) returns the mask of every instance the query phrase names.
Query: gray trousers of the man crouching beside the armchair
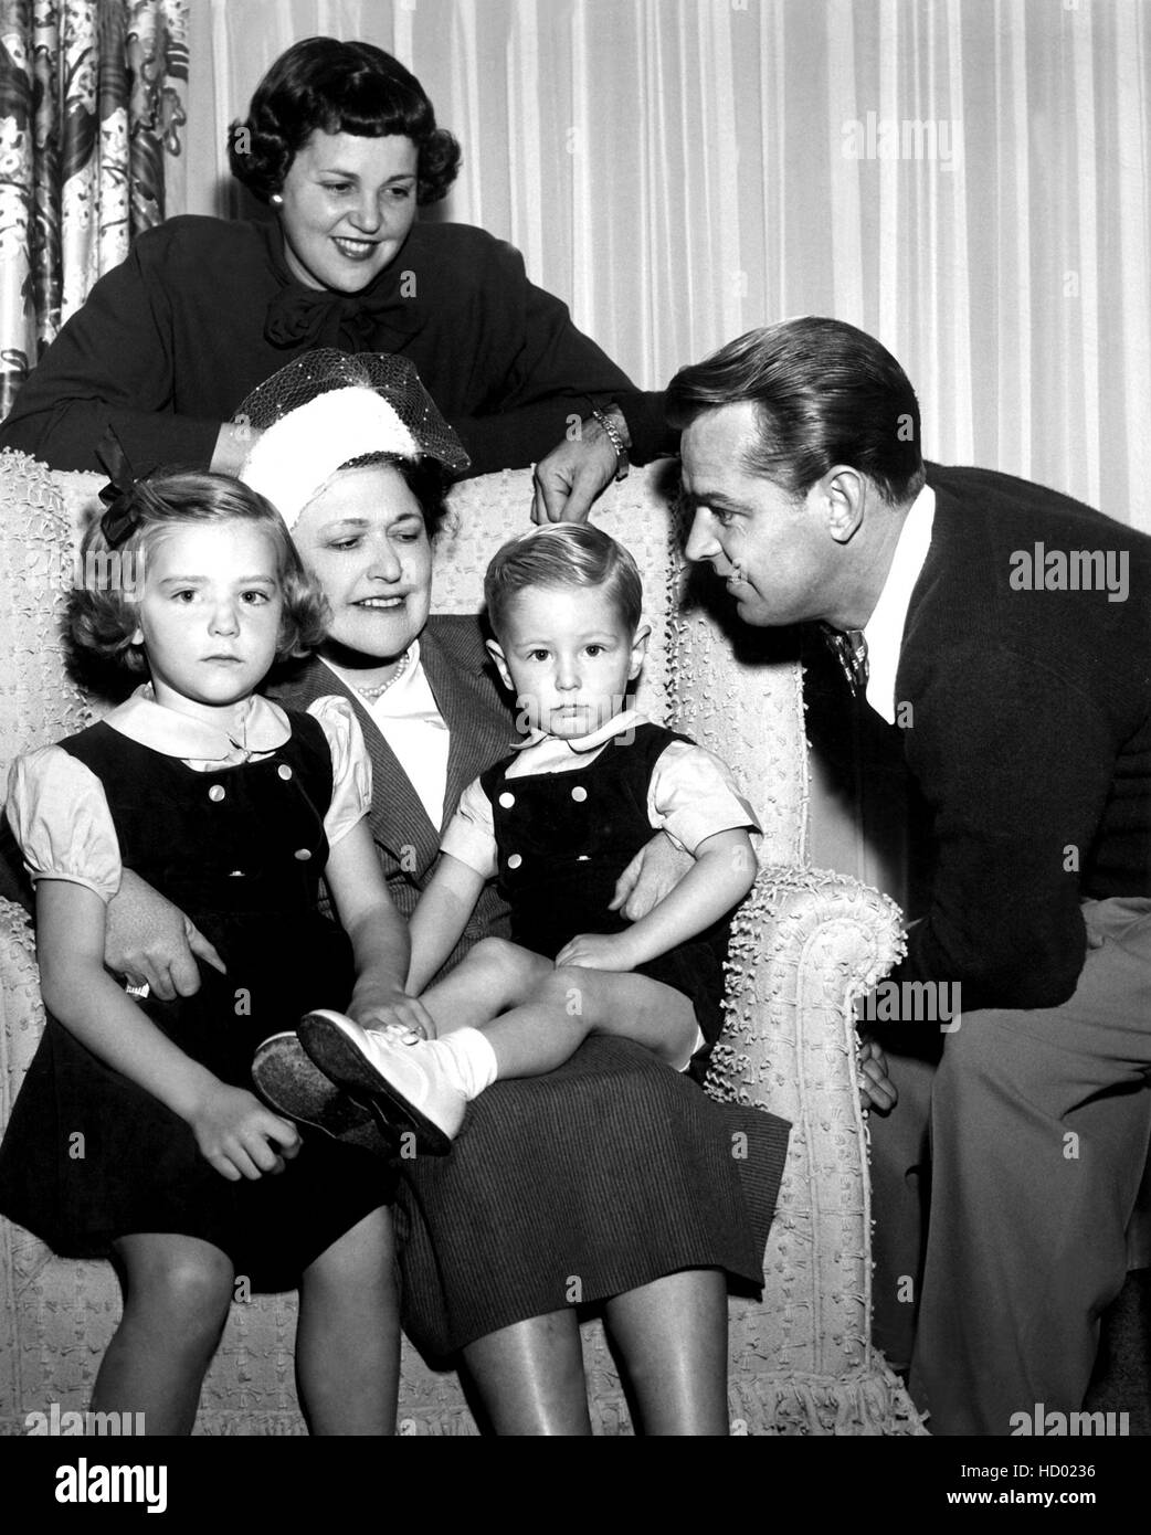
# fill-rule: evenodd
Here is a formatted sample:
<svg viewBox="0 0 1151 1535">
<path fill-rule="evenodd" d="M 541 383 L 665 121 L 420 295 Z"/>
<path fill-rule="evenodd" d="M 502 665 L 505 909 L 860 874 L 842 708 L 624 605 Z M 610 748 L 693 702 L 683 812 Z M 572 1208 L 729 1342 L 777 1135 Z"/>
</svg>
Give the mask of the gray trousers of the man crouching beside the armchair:
<svg viewBox="0 0 1151 1535">
<path fill-rule="evenodd" d="M 1080 1411 L 1123 1285 L 1151 1134 L 1151 900 L 1088 901 L 1083 918 L 1102 944 L 1060 1007 L 965 1015 L 935 1068 L 890 1058 L 901 1101 L 872 1127 L 876 1331 L 902 1363 L 918 1291 L 910 1389 L 935 1434 Z"/>
</svg>

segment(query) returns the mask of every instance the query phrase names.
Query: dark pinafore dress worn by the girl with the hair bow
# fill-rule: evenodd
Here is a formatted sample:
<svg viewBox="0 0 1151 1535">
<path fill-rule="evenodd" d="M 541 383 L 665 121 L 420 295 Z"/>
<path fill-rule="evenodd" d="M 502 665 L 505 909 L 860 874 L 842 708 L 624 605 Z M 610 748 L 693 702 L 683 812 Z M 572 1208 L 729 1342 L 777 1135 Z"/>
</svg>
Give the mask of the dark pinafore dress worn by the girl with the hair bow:
<svg viewBox="0 0 1151 1535">
<path fill-rule="evenodd" d="M 138 1005 L 249 1091 L 256 1045 L 312 1007 L 344 1007 L 353 981 L 347 936 L 316 909 L 331 755 L 316 720 L 289 718 L 272 755 L 210 772 L 103 723 L 61 743 L 103 786 L 123 866 L 227 966 L 201 962 L 195 996 Z M 0 1211 L 69 1257 L 106 1256 L 129 1233 L 200 1237 L 253 1289 L 287 1289 L 394 1190 L 387 1162 L 321 1131 L 302 1142 L 282 1173 L 230 1182 L 184 1119 L 49 1016 L 0 1148 Z"/>
</svg>

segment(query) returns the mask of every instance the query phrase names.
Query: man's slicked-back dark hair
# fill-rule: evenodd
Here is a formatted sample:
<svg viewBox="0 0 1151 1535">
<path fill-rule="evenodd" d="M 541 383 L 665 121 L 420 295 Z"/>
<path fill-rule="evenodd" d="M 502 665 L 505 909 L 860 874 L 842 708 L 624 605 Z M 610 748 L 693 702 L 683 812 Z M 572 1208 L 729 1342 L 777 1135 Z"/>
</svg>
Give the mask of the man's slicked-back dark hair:
<svg viewBox="0 0 1151 1535">
<path fill-rule="evenodd" d="M 806 316 L 749 330 L 680 368 L 666 411 L 683 430 L 706 410 L 750 401 L 760 419 L 746 467 L 792 496 L 847 464 L 890 505 L 924 484 L 919 402 L 890 352 L 855 325 Z"/>
</svg>

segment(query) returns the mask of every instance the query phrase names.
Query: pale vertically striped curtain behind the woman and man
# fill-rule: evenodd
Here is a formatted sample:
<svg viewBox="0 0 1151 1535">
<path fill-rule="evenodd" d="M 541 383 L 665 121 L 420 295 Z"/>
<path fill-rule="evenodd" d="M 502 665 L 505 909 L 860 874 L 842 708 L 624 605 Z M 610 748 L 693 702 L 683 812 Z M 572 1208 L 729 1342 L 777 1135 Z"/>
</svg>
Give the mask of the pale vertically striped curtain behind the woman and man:
<svg viewBox="0 0 1151 1535">
<path fill-rule="evenodd" d="M 1151 0 L 203 0 L 189 212 L 224 126 L 328 32 L 463 144 L 445 209 L 517 244 L 645 388 L 835 315 L 924 447 L 1151 531 Z M 209 98 L 210 92 L 210 98 Z"/>
</svg>

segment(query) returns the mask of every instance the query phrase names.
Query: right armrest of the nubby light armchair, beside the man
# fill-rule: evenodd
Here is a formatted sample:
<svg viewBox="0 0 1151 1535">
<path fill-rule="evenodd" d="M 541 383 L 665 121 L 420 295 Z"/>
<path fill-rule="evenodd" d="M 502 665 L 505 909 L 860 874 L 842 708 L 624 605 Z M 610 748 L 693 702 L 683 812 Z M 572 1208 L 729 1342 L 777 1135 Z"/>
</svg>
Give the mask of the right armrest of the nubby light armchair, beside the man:
<svg viewBox="0 0 1151 1535">
<path fill-rule="evenodd" d="M 839 1403 L 852 1400 L 832 1389 L 844 1365 L 872 1369 L 875 1360 L 855 1001 L 902 946 L 899 909 L 876 890 L 839 873 L 763 870 L 734 923 L 727 1024 L 707 1074 L 714 1096 L 758 1102 L 792 1122 L 764 1260 L 783 1299 L 770 1326 L 789 1368 L 827 1380 Z M 852 1411 L 867 1414 L 859 1401 Z M 887 1408 L 876 1401 L 875 1411 L 881 1418 Z"/>
</svg>

